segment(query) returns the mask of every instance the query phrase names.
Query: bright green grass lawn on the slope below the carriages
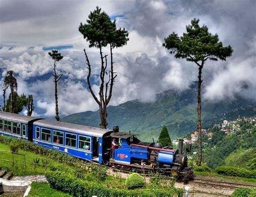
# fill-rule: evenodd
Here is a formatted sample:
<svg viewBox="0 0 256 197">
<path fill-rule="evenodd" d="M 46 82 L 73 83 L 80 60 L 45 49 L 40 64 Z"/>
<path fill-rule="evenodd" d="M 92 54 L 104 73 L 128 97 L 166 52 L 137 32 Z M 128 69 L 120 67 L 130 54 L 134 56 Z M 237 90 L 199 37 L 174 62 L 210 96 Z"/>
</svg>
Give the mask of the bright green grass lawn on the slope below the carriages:
<svg viewBox="0 0 256 197">
<path fill-rule="evenodd" d="M 58 161 L 49 161 L 46 156 L 33 152 L 19 150 L 18 153 L 12 154 L 8 145 L 0 143 L 0 167 L 11 171 L 15 176 L 45 174 L 51 165 L 62 165 Z M 25 161 L 24 156 L 20 154 L 25 154 Z M 33 164 L 36 158 L 40 158 L 38 165 Z M 46 165 L 43 165 L 43 161 L 46 161 Z"/>
</svg>

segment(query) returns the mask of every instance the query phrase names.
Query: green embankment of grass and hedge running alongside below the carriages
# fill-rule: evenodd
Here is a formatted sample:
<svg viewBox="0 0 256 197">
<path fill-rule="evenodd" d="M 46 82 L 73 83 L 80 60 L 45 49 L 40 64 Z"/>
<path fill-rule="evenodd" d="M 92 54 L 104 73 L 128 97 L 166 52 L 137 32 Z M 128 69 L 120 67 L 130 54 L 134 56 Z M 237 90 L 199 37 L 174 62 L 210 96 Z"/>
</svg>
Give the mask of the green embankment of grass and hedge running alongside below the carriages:
<svg viewBox="0 0 256 197">
<path fill-rule="evenodd" d="M 20 140 L 17 138 L 10 138 L 5 136 L 0 136 L 0 146 L 3 146 L 3 149 L 8 150 L 10 144 L 16 144 L 25 154 L 25 159 L 23 154 L 14 154 L 14 165 L 12 163 L 12 155 L 10 152 L 3 152 L 2 157 L 6 160 L 10 160 L 10 163 L 0 160 L 0 167 L 8 172 L 12 172 L 14 175 L 33 175 L 33 174 L 44 174 L 47 168 L 50 168 L 52 171 L 63 170 L 64 167 L 72 167 L 74 173 L 78 176 L 82 176 L 80 173 L 83 167 L 91 169 L 93 177 L 98 180 L 103 180 L 106 178 L 106 168 L 97 164 L 86 163 L 85 161 L 79 160 L 76 157 L 69 156 L 57 150 L 45 149 L 42 146 L 37 144 Z M 4 145 L 6 144 L 6 145 Z M 33 159 L 38 158 L 38 154 L 41 154 L 41 161 L 37 161 L 36 164 Z M 26 163 L 24 162 L 26 161 Z M 60 164 L 61 163 L 61 164 Z M 66 165 L 68 164 L 68 165 Z M 26 165 L 26 167 L 24 167 Z M 80 167 L 83 166 L 83 167 Z M 36 168 L 35 168 L 36 167 Z"/>
</svg>

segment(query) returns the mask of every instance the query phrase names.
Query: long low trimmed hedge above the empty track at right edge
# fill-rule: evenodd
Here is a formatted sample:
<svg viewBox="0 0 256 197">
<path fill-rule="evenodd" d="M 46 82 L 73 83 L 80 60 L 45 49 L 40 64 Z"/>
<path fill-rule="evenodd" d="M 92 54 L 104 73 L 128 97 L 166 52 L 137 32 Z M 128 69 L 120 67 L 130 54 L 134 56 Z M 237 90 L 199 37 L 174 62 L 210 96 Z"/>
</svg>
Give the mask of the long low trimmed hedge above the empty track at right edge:
<svg viewBox="0 0 256 197">
<path fill-rule="evenodd" d="M 215 169 L 218 174 L 235 176 L 235 177 L 246 177 L 256 178 L 256 170 L 246 170 L 245 168 L 233 167 L 233 166 L 220 166 Z"/>
</svg>

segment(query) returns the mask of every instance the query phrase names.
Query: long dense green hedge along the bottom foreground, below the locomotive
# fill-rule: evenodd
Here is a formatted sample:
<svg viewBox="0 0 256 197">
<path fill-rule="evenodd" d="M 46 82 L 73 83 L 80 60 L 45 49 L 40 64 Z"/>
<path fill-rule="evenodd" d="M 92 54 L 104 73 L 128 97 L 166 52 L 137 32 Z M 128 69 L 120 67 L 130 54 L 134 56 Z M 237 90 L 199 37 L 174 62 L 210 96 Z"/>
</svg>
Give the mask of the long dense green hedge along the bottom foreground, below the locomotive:
<svg viewBox="0 0 256 197">
<path fill-rule="evenodd" d="M 126 189 L 110 188 L 103 182 L 78 179 L 75 175 L 60 171 L 46 173 L 49 184 L 60 191 L 74 196 L 182 196 L 183 189 L 145 188 Z"/>
</svg>

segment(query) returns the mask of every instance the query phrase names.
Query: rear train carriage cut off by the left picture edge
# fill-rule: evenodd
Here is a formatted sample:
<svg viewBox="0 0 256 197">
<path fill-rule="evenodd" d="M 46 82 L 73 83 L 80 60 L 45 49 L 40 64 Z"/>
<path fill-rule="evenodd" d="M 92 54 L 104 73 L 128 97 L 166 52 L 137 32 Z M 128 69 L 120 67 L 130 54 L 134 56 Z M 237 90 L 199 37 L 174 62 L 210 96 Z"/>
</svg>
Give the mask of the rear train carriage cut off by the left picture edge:
<svg viewBox="0 0 256 197">
<path fill-rule="evenodd" d="M 33 138 L 33 122 L 42 119 L 0 111 L 0 135 L 30 140 Z"/>
</svg>

